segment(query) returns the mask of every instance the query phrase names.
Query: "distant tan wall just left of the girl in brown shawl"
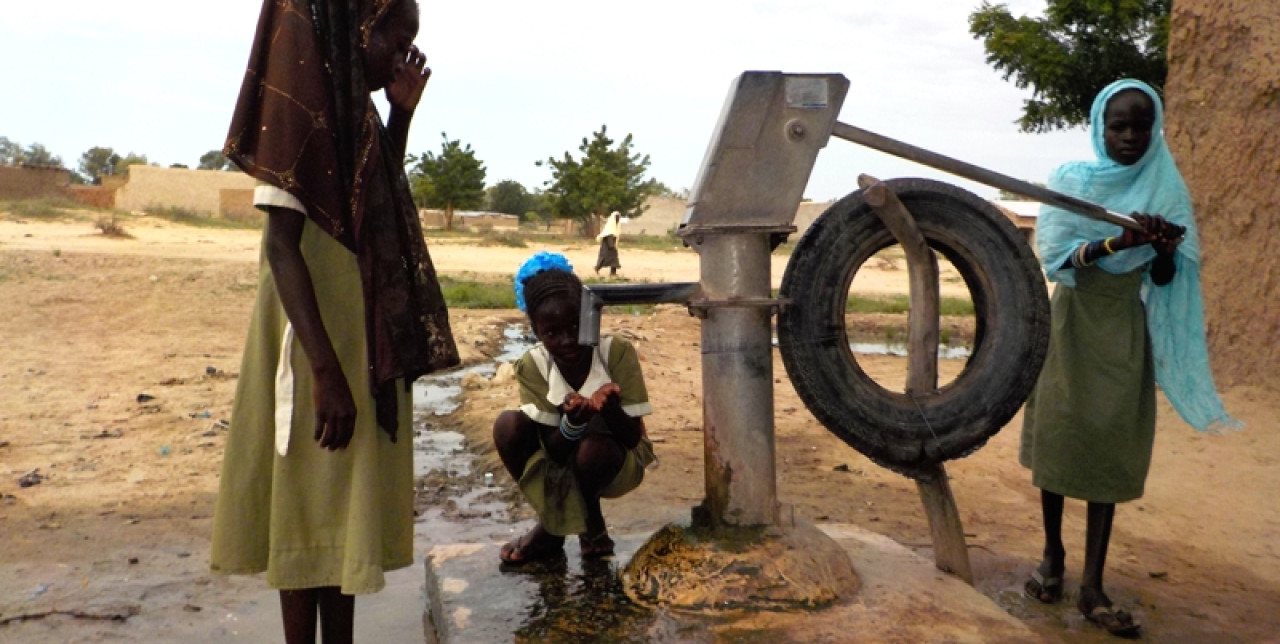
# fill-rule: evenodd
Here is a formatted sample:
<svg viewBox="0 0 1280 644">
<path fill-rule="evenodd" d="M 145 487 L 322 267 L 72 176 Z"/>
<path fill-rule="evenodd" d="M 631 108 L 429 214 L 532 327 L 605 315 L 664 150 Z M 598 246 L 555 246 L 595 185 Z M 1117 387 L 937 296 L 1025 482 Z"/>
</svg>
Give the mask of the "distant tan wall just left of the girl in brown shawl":
<svg viewBox="0 0 1280 644">
<path fill-rule="evenodd" d="M 223 189 L 252 188 L 253 179 L 241 172 L 131 165 L 128 181 L 115 193 L 115 207 L 168 206 L 215 216 L 221 213 Z"/>
</svg>

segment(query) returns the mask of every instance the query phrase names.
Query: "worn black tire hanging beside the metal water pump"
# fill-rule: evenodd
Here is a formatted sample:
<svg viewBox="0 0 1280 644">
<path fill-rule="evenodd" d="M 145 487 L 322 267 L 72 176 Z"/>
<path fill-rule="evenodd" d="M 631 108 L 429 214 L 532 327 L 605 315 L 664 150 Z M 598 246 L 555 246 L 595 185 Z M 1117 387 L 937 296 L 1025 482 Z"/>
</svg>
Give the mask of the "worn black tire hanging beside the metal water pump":
<svg viewBox="0 0 1280 644">
<path fill-rule="evenodd" d="M 845 303 L 858 269 L 897 243 L 861 191 L 833 204 L 796 245 L 782 278 L 778 350 L 809 411 L 872 461 L 913 478 L 973 453 L 1030 394 L 1048 347 L 1048 294 L 1036 255 L 986 200 L 929 179 L 886 182 L 974 305 L 973 353 L 938 390 L 911 399 L 868 376 L 849 348 Z"/>
</svg>

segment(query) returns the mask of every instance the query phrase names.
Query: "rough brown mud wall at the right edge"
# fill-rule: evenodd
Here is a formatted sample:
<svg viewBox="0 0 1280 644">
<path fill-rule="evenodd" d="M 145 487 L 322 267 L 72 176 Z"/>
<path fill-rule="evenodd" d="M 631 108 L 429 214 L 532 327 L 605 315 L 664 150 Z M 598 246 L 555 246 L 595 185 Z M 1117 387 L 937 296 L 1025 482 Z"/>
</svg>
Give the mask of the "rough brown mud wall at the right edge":
<svg viewBox="0 0 1280 644">
<path fill-rule="evenodd" d="M 1280 13 L 1178 0 L 1166 137 L 1196 204 L 1219 384 L 1280 390 Z"/>
</svg>

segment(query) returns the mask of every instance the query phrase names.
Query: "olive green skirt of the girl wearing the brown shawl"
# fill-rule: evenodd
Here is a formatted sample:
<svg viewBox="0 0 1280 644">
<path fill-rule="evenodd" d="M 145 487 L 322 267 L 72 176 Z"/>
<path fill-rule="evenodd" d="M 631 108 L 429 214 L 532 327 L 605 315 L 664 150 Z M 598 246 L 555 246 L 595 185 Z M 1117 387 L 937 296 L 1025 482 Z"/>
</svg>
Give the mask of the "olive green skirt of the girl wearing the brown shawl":
<svg viewBox="0 0 1280 644">
<path fill-rule="evenodd" d="M 337 452 L 312 439 L 311 366 L 294 338 L 288 451 L 276 452 L 275 374 L 288 319 L 264 257 L 214 510 L 211 568 L 265 571 L 268 584 L 279 589 L 375 593 L 384 571 L 413 561 L 412 397 L 398 387 L 401 429 L 392 443 L 378 426 L 370 393 L 356 256 L 310 220 L 301 248 L 356 401 L 356 431 Z"/>
</svg>

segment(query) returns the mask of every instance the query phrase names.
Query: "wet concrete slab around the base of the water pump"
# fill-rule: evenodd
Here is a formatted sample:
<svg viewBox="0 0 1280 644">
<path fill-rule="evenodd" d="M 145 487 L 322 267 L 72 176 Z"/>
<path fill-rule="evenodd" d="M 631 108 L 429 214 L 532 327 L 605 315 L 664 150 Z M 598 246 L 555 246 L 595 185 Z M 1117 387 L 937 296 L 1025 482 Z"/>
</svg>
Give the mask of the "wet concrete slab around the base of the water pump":
<svg viewBox="0 0 1280 644">
<path fill-rule="evenodd" d="M 849 553 L 861 588 L 814 612 L 691 616 L 650 611 L 622 593 L 618 566 L 649 538 L 614 535 L 614 561 L 566 557 L 504 572 L 498 543 L 436 545 L 426 554 L 428 641 L 617 643 L 1015 643 L 1041 641 L 968 584 L 893 540 L 852 525 L 819 525 Z"/>
</svg>

